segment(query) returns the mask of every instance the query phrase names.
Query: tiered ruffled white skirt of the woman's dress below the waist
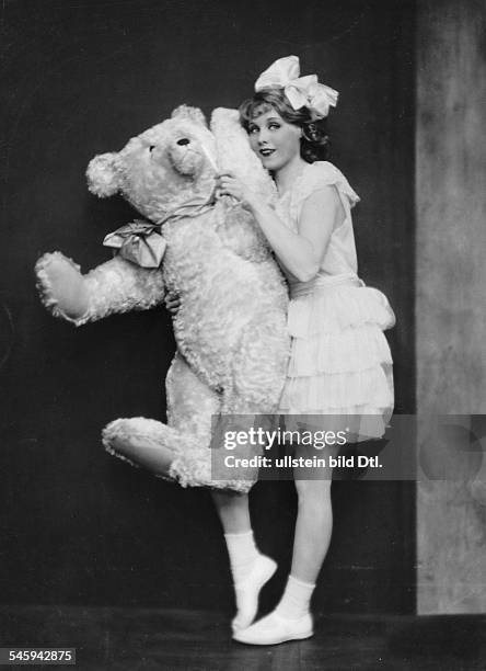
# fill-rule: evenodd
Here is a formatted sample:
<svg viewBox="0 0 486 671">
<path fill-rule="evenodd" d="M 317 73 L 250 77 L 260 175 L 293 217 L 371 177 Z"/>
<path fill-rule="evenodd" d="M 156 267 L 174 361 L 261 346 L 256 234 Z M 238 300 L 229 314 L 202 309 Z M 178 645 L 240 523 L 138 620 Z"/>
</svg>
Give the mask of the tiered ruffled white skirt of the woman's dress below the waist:
<svg viewBox="0 0 486 671">
<path fill-rule="evenodd" d="M 395 323 L 386 297 L 354 275 L 317 275 L 291 286 L 292 337 L 280 401 L 285 416 L 331 416 L 347 442 L 383 435 L 394 405 L 392 356 L 383 330 Z M 288 418 L 288 424 L 291 423 Z"/>
</svg>

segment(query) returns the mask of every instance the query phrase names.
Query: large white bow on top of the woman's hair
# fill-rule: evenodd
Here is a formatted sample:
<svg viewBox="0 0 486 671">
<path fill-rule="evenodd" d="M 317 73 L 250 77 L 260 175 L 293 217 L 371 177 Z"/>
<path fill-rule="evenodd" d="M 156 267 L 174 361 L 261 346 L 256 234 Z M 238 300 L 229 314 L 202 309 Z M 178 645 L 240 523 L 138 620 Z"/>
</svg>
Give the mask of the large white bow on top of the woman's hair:
<svg viewBox="0 0 486 671">
<path fill-rule="evenodd" d="M 323 118 L 337 104 L 338 92 L 319 83 L 316 75 L 300 77 L 298 56 L 286 56 L 270 65 L 255 82 L 255 91 L 266 87 L 284 87 L 294 110 L 309 107 L 315 118 Z"/>
</svg>

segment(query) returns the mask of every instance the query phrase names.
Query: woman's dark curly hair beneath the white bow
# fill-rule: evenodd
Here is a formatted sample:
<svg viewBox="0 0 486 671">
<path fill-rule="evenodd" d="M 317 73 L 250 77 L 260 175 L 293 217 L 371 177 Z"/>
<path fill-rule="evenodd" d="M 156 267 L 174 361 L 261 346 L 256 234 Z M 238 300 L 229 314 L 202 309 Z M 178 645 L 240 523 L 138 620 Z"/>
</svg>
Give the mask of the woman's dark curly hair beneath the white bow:
<svg viewBox="0 0 486 671">
<path fill-rule="evenodd" d="M 329 136 L 327 135 L 327 120 L 313 118 L 308 107 L 294 110 L 289 103 L 284 88 L 268 87 L 257 91 L 240 105 L 240 123 L 247 132 L 254 118 L 276 110 L 288 124 L 302 128 L 300 140 L 301 157 L 308 162 L 325 161 L 328 155 Z"/>
</svg>

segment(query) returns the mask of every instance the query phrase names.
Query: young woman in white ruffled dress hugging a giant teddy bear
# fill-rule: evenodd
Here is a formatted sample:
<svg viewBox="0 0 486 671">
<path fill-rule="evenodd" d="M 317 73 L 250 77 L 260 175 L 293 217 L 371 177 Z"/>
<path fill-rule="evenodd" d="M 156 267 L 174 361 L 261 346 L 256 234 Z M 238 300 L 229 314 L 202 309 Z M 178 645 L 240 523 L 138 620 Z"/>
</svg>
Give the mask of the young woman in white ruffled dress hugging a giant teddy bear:
<svg viewBox="0 0 486 671">
<path fill-rule="evenodd" d="M 241 123 L 275 180 L 277 204 L 262 202 L 231 174 L 220 178 L 220 191 L 253 213 L 288 278 L 292 349 L 281 412 L 289 420 L 313 416 L 312 428 L 315 416 L 327 416 L 333 429 L 352 427 L 350 442 L 378 437 L 393 409 L 392 360 L 382 331 L 394 325 L 394 315 L 385 296 L 358 278 L 350 208 L 359 198 L 325 160 L 325 117 L 337 92 L 315 76 L 299 77 L 296 56 L 273 64 L 255 90 L 240 107 Z M 271 645 L 312 636 L 310 600 L 333 519 L 331 469 L 322 476 L 301 479 L 296 474 L 299 504 L 290 576 L 277 607 L 254 624 L 259 591 L 275 562 L 255 546 L 247 496 L 212 493 L 235 587 L 234 639 Z"/>
</svg>

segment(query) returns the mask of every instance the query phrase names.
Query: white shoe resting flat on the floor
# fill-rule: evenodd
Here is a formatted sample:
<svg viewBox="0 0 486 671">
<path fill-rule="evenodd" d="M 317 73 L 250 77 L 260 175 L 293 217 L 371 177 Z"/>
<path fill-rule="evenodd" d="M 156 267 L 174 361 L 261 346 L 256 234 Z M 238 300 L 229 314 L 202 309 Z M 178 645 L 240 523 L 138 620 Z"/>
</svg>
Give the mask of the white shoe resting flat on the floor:
<svg viewBox="0 0 486 671">
<path fill-rule="evenodd" d="M 286 640 L 302 640 L 313 633 L 311 615 L 287 619 L 274 611 L 251 627 L 235 632 L 233 638 L 252 646 L 274 646 Z"/>
</svg>

